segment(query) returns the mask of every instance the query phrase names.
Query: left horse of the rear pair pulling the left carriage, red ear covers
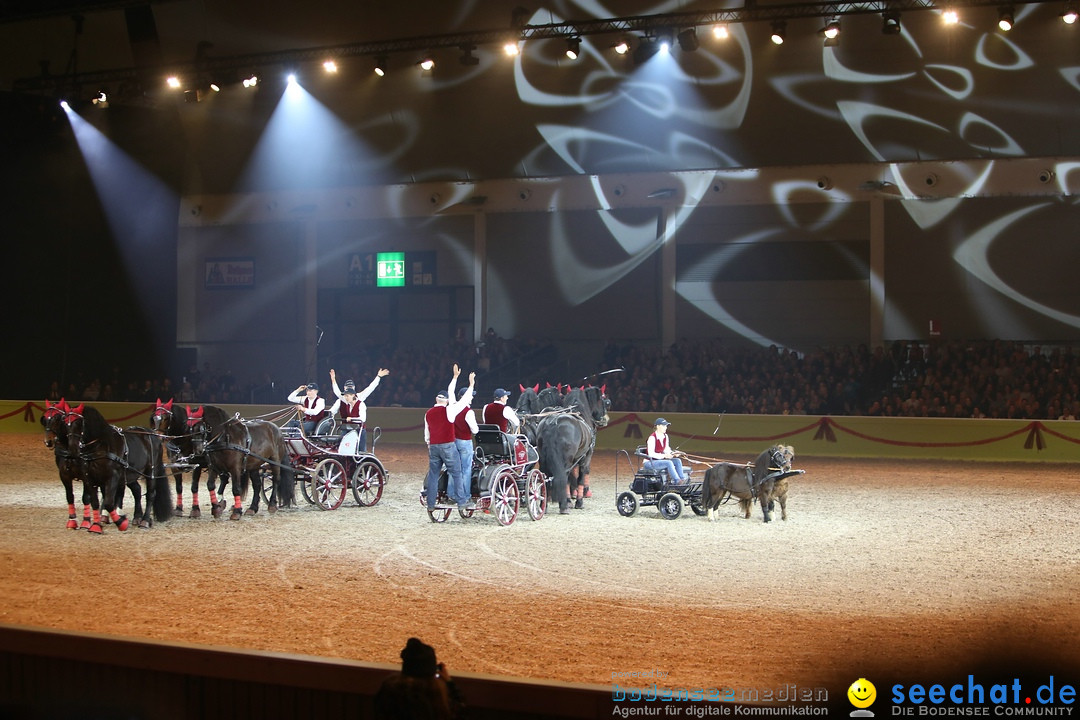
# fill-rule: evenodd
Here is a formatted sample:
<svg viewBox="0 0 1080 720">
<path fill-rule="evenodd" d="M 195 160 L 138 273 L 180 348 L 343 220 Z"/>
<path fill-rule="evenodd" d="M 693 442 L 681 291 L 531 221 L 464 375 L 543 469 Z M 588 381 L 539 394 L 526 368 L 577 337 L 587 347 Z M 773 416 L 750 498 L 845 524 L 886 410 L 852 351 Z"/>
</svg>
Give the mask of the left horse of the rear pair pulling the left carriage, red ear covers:
<svg viewBox="0 0 1080 720">
<path fill-rule="evenodd" d="M 198 412 L 205 423 L 203 427 L 212 434 L 217 433 L 229 419 L 225 410 L 213 405 L 200 407 Z M 161 436 L 168 463 L 172 465 L 168 470 L 172 471 L 176 484 L 176 507 L 173 508 L 173 514 L 177 517 L 184 515 L 185 466 L 191 468 L 191 513 L 188 517 L 202 517 L 202 508 L 199 505 L 199 478 L 203 470 L 206 470 L 208 475 L 206 490 L 210 492 L 211 505 L 216 508 L 218 503 L 217 492 L 214 489 L 215 473 L 210 468 L 206 453 L 194 450 L 192 424 L 191 407 L 174 406 L 173 400 L 162 403 L 159 398 L 150 415 L 150 427 Z M 225 483 L 226 479 L 222 478 L 220 489 L 225 488 Z M 220 510 L 217 515 L 220 515 Z"/>
</svg>

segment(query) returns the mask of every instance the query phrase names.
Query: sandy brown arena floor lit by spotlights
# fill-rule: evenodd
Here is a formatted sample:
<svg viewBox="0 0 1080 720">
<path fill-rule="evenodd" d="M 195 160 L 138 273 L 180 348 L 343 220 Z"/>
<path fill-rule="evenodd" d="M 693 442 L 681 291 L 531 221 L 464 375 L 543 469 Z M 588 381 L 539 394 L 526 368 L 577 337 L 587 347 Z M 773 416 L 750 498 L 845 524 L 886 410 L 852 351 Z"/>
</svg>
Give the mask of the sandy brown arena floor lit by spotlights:
<svg viewBox="0 0 1080 720">
<path fill-rule="evenodd" d="M 964 677 L 973 658 L 1017 649 L 1080 667 L 1069 466 L 796 448 L 806 475 L 786 522 L 728 505 L 710 524 L 689 508 L 620 516 L 616 463 L 620 486 L 630 467 L 608 452 L 584 510 L 499 527 L 429 522 L 424 448 L 387 445 L 375 507 L 350 494 L 322 512 L 301 498 L 273 516 L 206 513 L 91 536 L 65 529 L 39 436 L 0 435 L 0 452 L 4 623 L 393 664 L 416 635 L 454 670 L 600 684 L 633 671 L 706 688 L 886 669 Z"/>
</svg>

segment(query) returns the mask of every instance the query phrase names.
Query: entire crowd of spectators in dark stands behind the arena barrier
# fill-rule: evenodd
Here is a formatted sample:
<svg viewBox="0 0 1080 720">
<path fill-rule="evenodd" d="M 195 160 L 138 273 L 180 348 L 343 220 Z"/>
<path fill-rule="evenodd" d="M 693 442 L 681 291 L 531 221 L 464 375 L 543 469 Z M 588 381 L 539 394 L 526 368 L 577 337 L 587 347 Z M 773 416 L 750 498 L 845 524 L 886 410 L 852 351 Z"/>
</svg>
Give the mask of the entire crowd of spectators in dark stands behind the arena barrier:
<svg viewBox="0 0 1080 720">
<path fill-rule="evenodd" d="M 356 355 L 336 370 L 339 378 L 366 385 L 378 368 L 390 368 L 372 405 L 427 407 L 435 392 L 445 388 L 454 363 L 481 376 L 502 372 L 505 377 L 515 363 L 535 356 L 538 350 L 536 342 L 503 339 L 489 330 L 480 343 L 458 338 L 422 350 L 383 349 Z M 897 341 L 885 348 L 819 348 L 805 353 L 720 340 L 680 340 L 665 349 L 609 342 L 600 364 L 605 369 L 624 368 L 605 376 L 611 407 L 645 413 L 1080 417 L 1080 375 L 1074 350 L 1005 340 Z M 204 365 L 191 368 L 178 382 L 168 378 L 134 381 L 121 378 L 114 368 L 104 380 L 77 378 L 63 389 L 54 382 L 49 398 L 284 404 L 289 389 L 310 380 L 326 378 L 275 382 L 262 377 L 245 383 L 229 371 L 213 371 Z M 552 378 L 552 384 L 557 380 Z M 507 382 L 516 385 L 515 379 Z"/>
</svg>

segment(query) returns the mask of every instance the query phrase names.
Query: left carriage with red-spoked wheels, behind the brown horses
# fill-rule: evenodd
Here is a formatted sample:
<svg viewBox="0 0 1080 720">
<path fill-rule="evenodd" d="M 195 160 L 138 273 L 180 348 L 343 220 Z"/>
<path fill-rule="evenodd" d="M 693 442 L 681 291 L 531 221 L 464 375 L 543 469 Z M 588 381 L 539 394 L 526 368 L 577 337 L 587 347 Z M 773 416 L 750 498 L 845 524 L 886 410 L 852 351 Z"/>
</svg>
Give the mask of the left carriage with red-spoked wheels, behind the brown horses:
<svg viewBox="0 0 1080 720">
<path fill-rule="evenodd" d="M 357 505 L 376 505 L 389 477 L 375 456 L 379 429 L 372 433 L 370 452 L 360 448 L 359 430 L 336 431 L 330 418 L 324 419 L 312 435 L 305 434 L 299 425 L 281 429 L 301 494 L 322 510 L 337 510 L 352 489 Z"/>
</svg>

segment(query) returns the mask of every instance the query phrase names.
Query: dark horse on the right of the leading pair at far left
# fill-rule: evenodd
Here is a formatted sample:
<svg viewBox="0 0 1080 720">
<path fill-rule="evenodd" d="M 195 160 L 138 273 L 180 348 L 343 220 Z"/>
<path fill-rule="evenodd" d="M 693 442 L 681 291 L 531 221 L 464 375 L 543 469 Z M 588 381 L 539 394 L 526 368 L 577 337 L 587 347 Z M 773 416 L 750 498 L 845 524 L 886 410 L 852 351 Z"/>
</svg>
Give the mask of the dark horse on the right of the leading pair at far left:
<svg viewBox="0 0 1080 720">
<path fill-rule="evenodd" d="M 87 528 L 91 532 L 102 532 L 102 510 L 118 530 L 127 529 L 127 518 L 117 511 L 125 485 L 135 498 L 138 527 L 149 528 L 154 520 L 165 521 L 173 516 L 168 478 L 161 459 L 161 438 L 152 431 L 136 426 L 121 431 L 106 422 L 97 408 L 81 404 L 67 410 L 64 422 L 68 452 L 79 458 L 83 500 L 89 500 L 93 508 Z M 140 480 L 146 485 L 145 512 Z M 100 501 L 98 490 L 102 491 Z"/>
</svg>

